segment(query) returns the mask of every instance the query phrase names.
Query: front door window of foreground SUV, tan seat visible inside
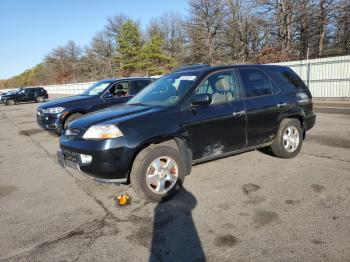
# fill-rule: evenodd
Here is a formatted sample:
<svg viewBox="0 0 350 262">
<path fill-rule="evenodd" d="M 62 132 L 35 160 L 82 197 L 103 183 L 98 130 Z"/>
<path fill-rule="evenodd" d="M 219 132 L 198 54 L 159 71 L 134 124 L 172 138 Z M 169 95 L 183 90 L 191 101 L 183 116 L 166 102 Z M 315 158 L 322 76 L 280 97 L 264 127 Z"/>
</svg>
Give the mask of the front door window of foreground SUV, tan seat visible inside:
<svg viewBox="0 0 350 262">
<path fill-rule="evenodd" d="M 211 104 L 226 103 L 240 98 L 239 87 L 232 70 L 210 75 L 195 91 L 195 95 L 212 96 Z"/>
</svg>

